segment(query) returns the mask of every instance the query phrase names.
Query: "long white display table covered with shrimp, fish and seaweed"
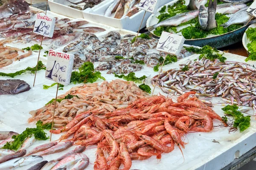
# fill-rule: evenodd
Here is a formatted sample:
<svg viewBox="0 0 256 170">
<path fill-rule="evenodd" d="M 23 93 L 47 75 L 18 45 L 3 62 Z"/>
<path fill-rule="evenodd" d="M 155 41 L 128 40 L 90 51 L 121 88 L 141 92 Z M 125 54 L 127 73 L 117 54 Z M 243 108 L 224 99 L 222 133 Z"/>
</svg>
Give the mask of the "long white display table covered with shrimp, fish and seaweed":
<svg viewBox="0 0 256 170">
<path fill-rule="evenodd" d="M 3 14 L 0 169 L 220 170 L 255 147 L 253 61 L 210 46 L 167 55 L 147 34 L 52 11 L 42 38 L 28 6 Z M 50 49 L 75 56 L 58 96 Z"/>
</svg>

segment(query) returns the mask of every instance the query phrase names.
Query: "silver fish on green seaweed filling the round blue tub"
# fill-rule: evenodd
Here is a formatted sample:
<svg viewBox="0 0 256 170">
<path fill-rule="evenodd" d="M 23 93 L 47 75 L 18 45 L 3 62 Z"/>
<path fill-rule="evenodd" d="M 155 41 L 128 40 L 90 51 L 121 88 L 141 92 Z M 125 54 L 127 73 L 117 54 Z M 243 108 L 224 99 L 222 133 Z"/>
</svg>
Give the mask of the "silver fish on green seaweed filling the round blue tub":
<svg viewBox="0 0 256 170">
<path fill-rule="evenodd" d="M 155 29 L 154 34 L 157 36 L 161 36 L 162 32 L 166 31 L 182 34 L 186 39 L 197 39 L 205 38 L 210 34 L 218 35 L 234 31 L 251 19 L 246 12 L 248 7 L 244 3 L 223 3 L 219 0 L 208 2 L 190 0 L 189 5 L 186 6 L 185 0 L 178 0 L 172 6 L 163 6 L 157 17 L 159 22 L 146 29 L 148 31 Z"/>
</svg>

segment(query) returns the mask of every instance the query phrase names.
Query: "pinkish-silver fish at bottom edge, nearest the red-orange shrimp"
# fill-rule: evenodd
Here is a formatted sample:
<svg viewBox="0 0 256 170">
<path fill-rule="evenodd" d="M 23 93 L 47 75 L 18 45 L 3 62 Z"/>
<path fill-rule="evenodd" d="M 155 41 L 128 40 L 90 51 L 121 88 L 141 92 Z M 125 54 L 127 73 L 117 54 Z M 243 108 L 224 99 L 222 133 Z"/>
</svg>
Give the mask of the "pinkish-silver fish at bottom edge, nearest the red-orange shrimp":
<svg viewBox="0 0 256 170">
<path fill-rule="evenodd" d="M 56 164 L 52 168 L 52 170 L 57 170 L 58 168 L 73 167 L 81 158 L 89 159 L 83 153 L 74 153 L 74 154 L 62 159 L 61 161 L 59 161 L 58 164 Z"/>
</svg>

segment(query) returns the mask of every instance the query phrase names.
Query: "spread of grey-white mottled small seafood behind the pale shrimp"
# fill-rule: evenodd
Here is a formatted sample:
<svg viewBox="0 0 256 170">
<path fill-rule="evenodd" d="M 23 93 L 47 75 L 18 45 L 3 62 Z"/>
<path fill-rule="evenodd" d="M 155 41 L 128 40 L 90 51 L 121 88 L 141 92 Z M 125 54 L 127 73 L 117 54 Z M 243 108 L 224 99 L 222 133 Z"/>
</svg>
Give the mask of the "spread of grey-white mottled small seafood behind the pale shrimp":
<svg viewBox="0 0 256 170">
<path fill-rule="evenodd" d="M 152 53 L 152 49 L 156 48 L 158 40 L 155 38 L 149 40 L 137 38 L 136 42 L 131 43 L 134 37 L 135 35 L 131 34 L 121 37 L 118 32 L 110 31 L 101 41 L 95 34 L 84 33 L 81 34 L 80 40 L 64 47 L 63 52 L 75 55 L 73 68 L 79 68 L 84 61 L 103 62 L 96 67 L 96 70 L 109 70 L 107 74 L 125 74 L 140 71 L 143 65 L 132 63 L 131 58 L 134 61 L 143 61 L 148 67 L 160 64 L 160 57 L 164 57 L 166 53 L 157 51 L 157 53 Z M 181 59 L 189 55 L 191 53 L 183 48 L 177 58 Z M 117 56 L 125 59 L 116 59 Z"/>
</svg>

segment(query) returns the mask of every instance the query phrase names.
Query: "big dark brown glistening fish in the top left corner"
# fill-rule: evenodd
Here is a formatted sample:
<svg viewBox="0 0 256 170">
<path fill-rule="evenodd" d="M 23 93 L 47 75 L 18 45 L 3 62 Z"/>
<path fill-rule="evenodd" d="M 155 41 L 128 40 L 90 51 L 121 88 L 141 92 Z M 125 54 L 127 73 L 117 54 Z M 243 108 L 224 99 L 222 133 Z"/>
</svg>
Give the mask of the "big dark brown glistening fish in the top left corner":
<svg viewBox="0 0 256 170">
<path fill-rule="evenodd" d="M 10 0 L 0 6 L 0 18 L 9 17 L 13 14 L 25 13 L 29 10 L 26 0 Z"/>
</svg>

